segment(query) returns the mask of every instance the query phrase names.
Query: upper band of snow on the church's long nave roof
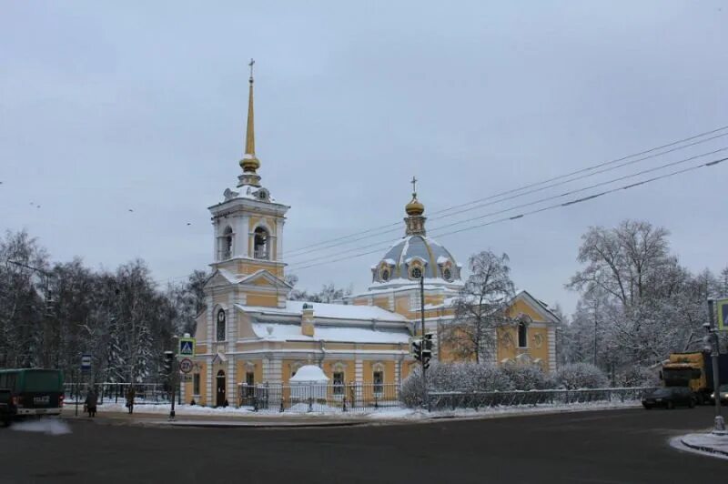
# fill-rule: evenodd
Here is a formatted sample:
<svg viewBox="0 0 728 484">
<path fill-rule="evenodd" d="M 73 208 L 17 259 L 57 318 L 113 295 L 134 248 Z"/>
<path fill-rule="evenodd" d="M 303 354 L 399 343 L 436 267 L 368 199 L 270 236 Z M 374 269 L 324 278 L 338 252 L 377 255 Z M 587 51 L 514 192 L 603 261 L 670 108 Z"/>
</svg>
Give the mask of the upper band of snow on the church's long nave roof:
<svg viewBox="0 0 728 484">
<path fill-rule="evenodd" d="M 306 301 L 286 301 L 286 308 L 265 308 L 256 306 L 236 305 L 238 308 L 247 312 L 256 312 L 264 314 L 273 314 L 281 316 L 301 316 L 303 314 L 303 305 L 313 306 L 314 318 L 333 318 L 333 319 L 359 319 L 371 321 L 378 319 L 380 321 L 406 321 L 407 318 L 379 308 L 377 306 L 354 306 L 347 304 L 327 304 L 327 303 L 309 303 Z"/>
</svg>

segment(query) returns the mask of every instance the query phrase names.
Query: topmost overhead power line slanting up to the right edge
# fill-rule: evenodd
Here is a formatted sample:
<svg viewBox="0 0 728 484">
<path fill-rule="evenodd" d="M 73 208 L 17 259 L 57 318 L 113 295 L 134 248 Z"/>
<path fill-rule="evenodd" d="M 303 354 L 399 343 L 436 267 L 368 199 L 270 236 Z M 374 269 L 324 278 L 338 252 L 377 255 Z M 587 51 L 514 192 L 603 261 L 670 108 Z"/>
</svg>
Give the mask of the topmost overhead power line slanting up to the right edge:
<svg viewBox="0 0 728 484">
<path fill-rule="evenodd" d="M 597 165 L 587 166 L 587 167 L 584 167 L 584 168 L 581 168 L 581 169 L 578 169 L 578 170 L 575 170 L 575 171 L 572 171 L 570 173 L 566 173 L 566 174 L 563 174 L 563 175 L 560 175 L 560 176 L 553 176 L 553 177 L 551 177 L 549 179 L 546 179 L 546 180 L 543 180 L 541 182 L 531 183 L 531 184 L 528 184 L 528 185 L 524 185 L 522 187 L 518 187 L 518 188 L 515 188 L 515 189 L 503 191 L 503 192 L 501 192 L 499 194 L 492 195 L 490 197 L 480 198 L 480 199 L 473 200 L 473 201 L 470 201 L 470 202 L 466 202 L 466 203 L 463 203 L 463 204 L 460 204 L 460 205 L 443 208 L 443 209 L 438 210 L 436 212 L 432 212 L 432 215 L 437 215 L 437 214 L 440 214 L 440 213 L 448 212 L 448 211 L 451 211 L 451 210 L 454 210 L 454 209 L 460 208 L 460 207 L 467 207 L 467 206 L 472 205 L 472 204 L 475 204 L 475 203 L 480 203 L 480 202 L 483 202 L 483 201 L 486 201 L 486 200 L 490 200 L 492 198 L 501 197 L 503 195 L 508 195 L 508 194 L 513 193 L 513 192 L 519 192 L 521 190 L 526 190 L 528 188 L 539 187 L 541 185 L 550 183 L 552 181 L 559 180 L 561 178 L 565 178 L 565 177 L 573 176 L 573 175 L 579 175 L 581 173 L 589 172 L 591 170 L 600 168 L 602 166 L 609 166 L 609 165 L 613 165 L 613 164 L 619 163 L 621 161 L 627 160 L 627 159 L 632 158 L 632 157 L 635 157 L 635 156 L 646 155 L 648 153 L 652 153 L 654 151 L 658 151 L 658 150 L 661 150 L 663 148 L 668 148 L 668 147 L 671 147 L 671 146 L 680 145 L 682 143 L 685 143 L 685 142 L 688 142 L 688 141 L 692 141 L 693 139 L 701 138 L 703 136 L 713 135 L 714 133 L 718 133 L 720 131 L 724 131 L 725 129 L 728 129 L 728 126 L 721 126 L 721 127 L 712 129 L 710 131 L 705 131 L 705 132 L 700 133 L 700 134 L 697 134 L 697 135 L 688 136 L 688 137 L 679 139 L 677 141 L 673 141 L 672 143 L 668 143 L 666 145 L 655 146 L 655 147 L 652 147 L 650 149 L 643 150 L 643 151 L 641 151 L 639 153 L 634 153 L 634 154 L 628 155 L 628 156 L 622 156 L 620 158 L 616 158 L 616 159 L 613 159 L 611 161 L 602 162 L 602 163 L 599 163 Z M 728 133 L 726 133 L 726 135 L 728 135 Z M 725 135 L 721 135 L 721 136 L 725 136 Z M 720 137 L 720 136 L 715 136 L 715 137 Z M 693 143 L 693 144 L 688 145 L 688 146 L 682 146 L 680 148 L 675 148 L 675 149 L 670 150 L 670 151 L 665 152 L 665 153 L 669 153 L 669 152 L 675 151 L 677 149 L 683 149 L 683 148 L 689 147 L 689 146 L 694 146 L 694 145 L 699 144 L 699 143 L 704 143 L 704 142 L 707 142 L 707 141 L 710 141 L 710 140 L 714 139 L 715 137 L 710 138 L 710 139 L 705 139 L 705 140 L 699 141 L 697 143 Z M 292 257 L 293 254 L 296 254 L 296 253 L 298 253 L 298 252 L 300 252 L 302 250 L 305 250 L 307 248 L 310 248 L 310 247 L 319 247 L 321 244 L 329 244 L 330 242 L 337 242 L 337 241 L 341 241 L 341 240 L 348 239 L 350 237 L 356 237 L 356 236 L 360 236 L 360 235 L 364 235 L 364 234 L 369 234 L 371 232 L 379 231 L 381 229 L 385 229 L 385 228 L 389 228 L 389 227 L 395 227 L 395 226 L 399 227 L 399 224 L 400 224 L 400 222 L 395 222 L 395 223 L 392 223 L 392 224 L 387 224 L 387 225 L 383 225 L 383 226 L 379 226 L 379 227 L 373 227 L 373 228 L 369 228 L 367 230 L 362 230 L 360 232 L 355 232 L 355 233 L 349 234 L 347 236 L 341 236 L 341 237 L 334 237 L 334 238 L 330 238 L 330 239 L 325 239 L 325 240 L 319 241 L 317 243 L 310 244 L 308 246 L 303 246 L 303 247 L 299 247 L 297 249 L 293 249 L 293 250 L 291 250 L 291 251 L 288 252 L 288 256 Z"/>
</svg>

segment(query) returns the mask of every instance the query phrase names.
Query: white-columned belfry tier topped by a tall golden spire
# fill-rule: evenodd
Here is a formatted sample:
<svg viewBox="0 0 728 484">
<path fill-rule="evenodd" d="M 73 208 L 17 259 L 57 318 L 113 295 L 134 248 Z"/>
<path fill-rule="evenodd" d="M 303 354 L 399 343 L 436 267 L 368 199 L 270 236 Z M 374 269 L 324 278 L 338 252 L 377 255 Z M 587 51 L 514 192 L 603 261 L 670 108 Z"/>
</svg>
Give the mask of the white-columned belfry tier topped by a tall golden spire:
<svg viewBox="0 0 728 484">
<path fill-rule="evenodd" d="M 239 165 L 243 172 L 234 189 L 227 188 L 223 201 L 209 207 L 214 232 L 213 269 L 223 269 L 243 278 L 261 269 L 283 278 L 283 226 L 288 206 L 278 203 L 260 184 L 256 156 L 253 106 L 253 65 L 248 79 L 248 126 L 245 153 Z"/>
</svg>

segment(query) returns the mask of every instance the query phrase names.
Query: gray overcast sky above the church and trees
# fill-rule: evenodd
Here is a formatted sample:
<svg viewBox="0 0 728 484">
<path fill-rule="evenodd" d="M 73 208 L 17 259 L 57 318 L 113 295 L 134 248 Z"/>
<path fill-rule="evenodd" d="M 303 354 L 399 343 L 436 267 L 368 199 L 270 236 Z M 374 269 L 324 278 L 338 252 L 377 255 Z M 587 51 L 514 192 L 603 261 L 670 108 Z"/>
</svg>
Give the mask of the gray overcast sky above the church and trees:
<svg viewBox="0 0 728 484">
<path fill-rule="evenodd" d="M 291 206 L 288 249 L 401 220 L 412 175 L 432 213 L 728 125 L 725 1 L 353 5 L 0 2 L 0 228 L 56 260 L 142 257 L 161 281 L 206 267 L 250 57 L 259 173 Z M 462 263 L 507 252 L 517 287 L 571 311 L 563 284 L 591 225 L 647 219 L 687 267 L 725 266 L 725 165 L 436 238 Z M 297 271 L 300 285 L 364 289 L 378 257 Z"/>
</svg>

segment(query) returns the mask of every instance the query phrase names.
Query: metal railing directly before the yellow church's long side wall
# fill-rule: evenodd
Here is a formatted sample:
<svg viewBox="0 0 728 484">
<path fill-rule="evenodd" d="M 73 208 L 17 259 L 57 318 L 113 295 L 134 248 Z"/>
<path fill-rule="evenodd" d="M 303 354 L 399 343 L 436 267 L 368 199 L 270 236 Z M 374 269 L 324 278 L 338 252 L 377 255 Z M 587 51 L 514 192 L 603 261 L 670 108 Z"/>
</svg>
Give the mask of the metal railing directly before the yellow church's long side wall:
<svg viewBox="0 0 728 484">
<path fill-rule="evenodd" d="M 347 412 L 401 406 L 397 384 L 242 384 L 238 388 L 241 407 L 254 411 Z"/>
</svg>

